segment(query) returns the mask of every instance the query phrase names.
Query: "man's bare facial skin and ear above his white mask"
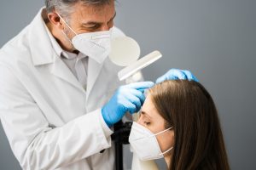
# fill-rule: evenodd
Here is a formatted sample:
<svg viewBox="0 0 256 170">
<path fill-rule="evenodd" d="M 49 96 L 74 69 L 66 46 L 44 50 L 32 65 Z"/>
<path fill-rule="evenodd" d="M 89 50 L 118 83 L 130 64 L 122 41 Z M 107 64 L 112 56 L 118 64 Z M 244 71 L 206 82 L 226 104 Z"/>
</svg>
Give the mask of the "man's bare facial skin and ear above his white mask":
<svg viewBox="0 0 256 170">
<path fill-rule="evenodd" d="M 72 8 L 73 12 L 67 18 L 61 16 L 63 20 L 59 17 L 58 11 L 49 13 L 47 26 L 61 48 L 71 53 L 78 53 L 71 43 L 72 38 L 76 36 L 73 31 L 77 34 L 108 31 L 113 27 L 116 13 L 114 1 L 103 6 L 84 5 L 80 2 Z M 68 28 L 64 20 L 73 31 Z"/>
</svg>

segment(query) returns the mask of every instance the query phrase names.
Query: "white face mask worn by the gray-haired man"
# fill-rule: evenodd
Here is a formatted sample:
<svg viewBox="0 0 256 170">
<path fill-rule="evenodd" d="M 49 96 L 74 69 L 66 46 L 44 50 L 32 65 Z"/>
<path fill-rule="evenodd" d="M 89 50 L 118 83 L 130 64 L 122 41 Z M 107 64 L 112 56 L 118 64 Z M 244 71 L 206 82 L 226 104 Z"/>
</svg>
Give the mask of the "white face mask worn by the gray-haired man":
<svg viewBox="0 0 256 170">
<path fill-rule="evenodd" d="M 61 15 L 58 15 L 61 20 L 63 20 Z M 67 27 L 73 31 L 73 29 L 68 26 L 67 22 L 65 20 L 63 21 Z M 111 29 L 109 31 L 96 31 L 82 34 L 77 34 L 75 31 L 73 31 L 76 36 L 73 37 L 71 42 L 74 48 L 90 58 L 95 59 L 96 62 L 101 64 L 110 53 L 111 32 Z"/>
</svg>

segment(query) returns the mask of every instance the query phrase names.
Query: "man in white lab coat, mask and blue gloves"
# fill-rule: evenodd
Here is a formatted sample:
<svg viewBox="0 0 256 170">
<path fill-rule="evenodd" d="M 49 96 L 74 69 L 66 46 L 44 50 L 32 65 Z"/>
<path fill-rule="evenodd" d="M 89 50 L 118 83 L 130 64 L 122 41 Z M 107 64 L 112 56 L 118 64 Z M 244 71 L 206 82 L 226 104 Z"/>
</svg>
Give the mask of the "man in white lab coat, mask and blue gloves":
<svg viewBox="0 0 256 170">
<path fill-rule="evenodd" d="M 45 0 L 0 50 L 0 116 L 23 169 L 113 169 L 111 127 L 153 82 L 124 85 L 108 59 L 113 0 Z M 171 70 L 166 79 L 195 79 Z"/>
</svg>

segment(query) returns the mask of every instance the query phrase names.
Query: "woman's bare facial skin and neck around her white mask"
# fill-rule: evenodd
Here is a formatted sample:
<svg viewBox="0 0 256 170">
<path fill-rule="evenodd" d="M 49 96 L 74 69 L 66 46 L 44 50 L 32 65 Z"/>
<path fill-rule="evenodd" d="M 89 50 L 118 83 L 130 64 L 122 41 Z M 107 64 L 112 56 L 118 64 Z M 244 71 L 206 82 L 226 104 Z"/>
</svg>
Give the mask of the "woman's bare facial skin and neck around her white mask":
<svg viewBox="0 0 256 170">
<path fill-rule="evenodd" d="M 148 130 L 150 130 L 152 133 L 159 133 L 166 129 L 165 120 L 162 116 L 160 116 L 159 112 L 154 107 L 150 94 L 148 94 L 147 98 L 145 99 L 137 123 L 139 123 L 143 127 L 147 127 Z M 164 152 L 173 146 L 174 132 L 172 129 L 170 129 L 165 133 L 160 133 L 159 135 L 157 135 L 156 139 L 158 141 L 158 144 L 160 145 L 160 150 Z M 168 167 L 171 164 L 171 156 L 172 150 L 164 155 Z"/>
</svg>

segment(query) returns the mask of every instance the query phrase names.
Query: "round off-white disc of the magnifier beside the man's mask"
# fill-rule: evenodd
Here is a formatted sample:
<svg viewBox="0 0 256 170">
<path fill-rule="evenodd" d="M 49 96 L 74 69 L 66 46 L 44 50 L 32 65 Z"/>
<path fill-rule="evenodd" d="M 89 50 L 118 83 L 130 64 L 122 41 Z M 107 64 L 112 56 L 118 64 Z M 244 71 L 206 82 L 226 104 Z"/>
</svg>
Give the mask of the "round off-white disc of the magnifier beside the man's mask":
<svg viewBox="0 0 256 170">
<path fill-rule="evenodd" d="M 116 37 L 111 40 L 109 58 L 119 66 L 131 65 L 140 57 L 140 47 L 131 37 Z"/>
</svg>

